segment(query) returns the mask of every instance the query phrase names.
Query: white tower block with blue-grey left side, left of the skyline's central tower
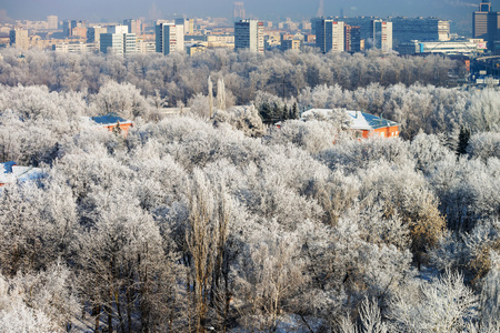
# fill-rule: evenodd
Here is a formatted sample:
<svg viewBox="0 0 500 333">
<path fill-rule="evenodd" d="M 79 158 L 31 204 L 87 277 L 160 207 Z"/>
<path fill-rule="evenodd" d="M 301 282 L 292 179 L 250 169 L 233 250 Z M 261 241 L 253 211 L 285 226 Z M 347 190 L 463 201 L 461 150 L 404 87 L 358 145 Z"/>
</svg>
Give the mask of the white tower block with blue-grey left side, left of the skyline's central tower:
<svg viewBox="0 0 500 333">
<path fill-rule="evenodd" d="M 156 26 L 157 52 L 167 56 L 172 52 L 184 51 L 184 26 L 157 22 Z"/>
</svg>

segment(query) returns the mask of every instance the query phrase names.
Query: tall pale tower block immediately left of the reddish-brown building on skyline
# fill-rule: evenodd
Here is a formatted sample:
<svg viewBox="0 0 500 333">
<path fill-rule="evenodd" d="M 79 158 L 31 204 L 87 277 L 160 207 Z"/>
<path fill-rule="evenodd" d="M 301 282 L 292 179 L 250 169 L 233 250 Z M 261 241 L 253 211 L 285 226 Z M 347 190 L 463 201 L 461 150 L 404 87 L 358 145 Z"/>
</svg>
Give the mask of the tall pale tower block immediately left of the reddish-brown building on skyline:
<svg viewBox="0 0 500 333">
<path fill-rule="evenodd" d="M 316 46 L 322 53 L 344 50 L 344 23 L 332 19 L 319 19 L 316 23 Z"/>
</svg>

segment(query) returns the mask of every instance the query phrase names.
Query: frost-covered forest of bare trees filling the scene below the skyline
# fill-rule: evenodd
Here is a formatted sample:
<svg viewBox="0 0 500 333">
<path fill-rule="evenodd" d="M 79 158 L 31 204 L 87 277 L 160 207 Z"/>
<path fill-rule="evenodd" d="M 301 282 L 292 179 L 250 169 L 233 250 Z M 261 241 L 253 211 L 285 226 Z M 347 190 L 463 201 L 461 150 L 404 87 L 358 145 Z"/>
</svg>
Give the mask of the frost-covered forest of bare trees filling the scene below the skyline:
<svg viewBox="0 0 500 333">
<path fill-rule="evenodd" d="M 500 91 L 459 63 L 0 54 L 0 162 L 43 170 L 0 188 L 0 331 L 499 332 Z"/>
</svg>

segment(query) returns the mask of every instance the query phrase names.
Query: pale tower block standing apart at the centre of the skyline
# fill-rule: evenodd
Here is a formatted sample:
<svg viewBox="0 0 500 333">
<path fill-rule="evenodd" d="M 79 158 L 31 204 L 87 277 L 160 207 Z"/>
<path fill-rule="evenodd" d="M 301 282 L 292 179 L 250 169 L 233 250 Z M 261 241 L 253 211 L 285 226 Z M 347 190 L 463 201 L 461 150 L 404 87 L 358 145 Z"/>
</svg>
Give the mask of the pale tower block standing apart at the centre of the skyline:
<svg viewBox="0 0 500 333">
<path fill-rule="evenodd" d="M 249 49 L 263 53 L 263 23 L 258 20 L 234 22 L 234 50 Z"/>
</svg>

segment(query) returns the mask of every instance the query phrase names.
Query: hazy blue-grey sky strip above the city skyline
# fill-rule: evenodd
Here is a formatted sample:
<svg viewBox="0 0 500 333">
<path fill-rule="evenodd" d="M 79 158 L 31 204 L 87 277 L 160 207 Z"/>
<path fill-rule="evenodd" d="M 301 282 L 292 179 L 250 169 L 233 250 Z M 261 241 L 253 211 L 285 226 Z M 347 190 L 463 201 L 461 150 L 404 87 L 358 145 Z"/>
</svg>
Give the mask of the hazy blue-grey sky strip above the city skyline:
<svg viewBox="0 0 500 333">
<path fill-rule="evenodd" d="M 500 10 L 493 1 L 493 9 Z M 232 17 L 233 0 L 0 0 L 0 10 L 12 19 L 44 20 L 48 14 L 63 19 Z M 263 20 L 309 19 L 316 16 L 320 0 L 247 0 L 247 16 Z M 433 16 L 454 21 L 470 19 L 478 1 L 461 0 L 324 0 L 324 16 Z"/>
</svg>

